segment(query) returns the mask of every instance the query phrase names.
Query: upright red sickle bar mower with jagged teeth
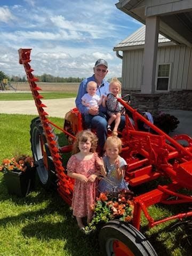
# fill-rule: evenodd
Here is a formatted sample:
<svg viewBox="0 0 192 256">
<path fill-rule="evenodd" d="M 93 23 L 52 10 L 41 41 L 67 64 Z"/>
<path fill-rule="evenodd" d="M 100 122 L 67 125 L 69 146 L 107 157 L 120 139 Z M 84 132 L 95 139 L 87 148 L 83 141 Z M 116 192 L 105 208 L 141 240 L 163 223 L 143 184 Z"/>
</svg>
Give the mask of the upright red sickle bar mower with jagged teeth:
<svg viewBox="0 0 192 256">
<path fill-rule="evenodd" d="M 55 167 L 55 174 L 58 178 L 57 184 L 58 184 L 59 194 L 68 204 L 71 204 L 71 199 L 73 196 L 73 180 L 71 180 L 64 172 L 65 169 L 62 166 L 61 156 L 59 154 L 59 146 L 57 143 L 57 137 L 54 134 L 52 126 L 51 126 L 54 124 L 47 118 L 48 114 L 44 110 L 44 108 L 46 106 L 42 103 L 43 96 L 41 94 L 39 94 L 39 92 L 38 92 L 39 90 L 41 90 L 41 88 L 38 87 L 36 84 L 36 82 L 38 81 L 38 78 L 34 77 L 34 75 L 32 74 L 32 72 L 34 70 L 31 69 L 31 67 L 29 65 L 30 51 L 31 51 L 31 49 L 19 49 L 18 50 L 19 63 L 22 64 L 25 68 L 25 71 L 27 74 L 27 79 L 28 79 L 28 82 L 30 85 L 30 89 L 33 94 L 33 98 L 35 100 L 35 105 L 38 110 L 39 119 L 40 119 L 42 127 L 43 127 L 44 138 L 39 136 L 39 140 L 40 140 L 39 144 L 41 145 L 41 149 L 42 149 L 43 164 L 45 165 L 46 170 L 48 170 L 49 163 L 47 161 L 47 157 L 45 156 L 47 154 L 47 152 L 46 152 L 47 150 L 45 147 L 43 147 L 43 143 L 46 142 L 45 146 L 47 146 L 49 148 L 50 155 L 51 155 L 52 161 L 54 163 L 54 167 Z M 57 125 L 54 125 L 54 126 L 57 127 Z M 65 132 L 65 131 L 63 131 L 63 132 Z M 65 133 L 68 134 L 67 132 L 65 132 Z M 68 135 L 70 135 L 70 134 L 68 134 Z M 74 138 L 73 135 L 71 135 L 71 137 Z M 33 148 L 32 148 L 32 150 L 33 150 Z M 37 160 L 38 160 L 37 156 L 35 155 L 35 161 L 37 162 Z M 38 169 L 38 167 L 37 167 L 37 169 Z M 41 172 L 41 170 L 40 170 L 40 172 Z"/>
</svg>

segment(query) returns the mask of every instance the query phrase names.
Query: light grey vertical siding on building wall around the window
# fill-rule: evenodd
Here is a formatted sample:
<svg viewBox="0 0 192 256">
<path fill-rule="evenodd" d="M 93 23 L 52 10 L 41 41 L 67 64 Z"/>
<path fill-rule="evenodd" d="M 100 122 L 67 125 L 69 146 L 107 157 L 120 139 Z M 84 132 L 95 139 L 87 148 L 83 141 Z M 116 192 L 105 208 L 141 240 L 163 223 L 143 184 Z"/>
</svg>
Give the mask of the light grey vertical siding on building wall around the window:
<svg viewBox="0 0 192 256">
<path fill-rule="evenodd" d="M 187 46 L 158 47 L 157 64 L 172 63 L 170 90 L 187 89 L 191 49 Z M 141 89 L 143 49 L 123 52 L 123 89 Z"/>
</svg>

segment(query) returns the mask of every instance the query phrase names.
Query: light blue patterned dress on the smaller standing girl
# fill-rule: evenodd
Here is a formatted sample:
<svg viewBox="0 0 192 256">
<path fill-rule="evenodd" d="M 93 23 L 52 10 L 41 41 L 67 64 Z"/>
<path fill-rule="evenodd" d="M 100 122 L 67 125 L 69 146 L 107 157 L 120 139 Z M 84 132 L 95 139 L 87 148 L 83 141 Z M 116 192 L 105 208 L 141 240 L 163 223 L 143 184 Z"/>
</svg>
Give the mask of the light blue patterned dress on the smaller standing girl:
<svg viewBox="0 0 192 256">
<path fill-rule="evenodd" d="M 113 192 L 113 191 L 120 191 L 122 189 L 128 189 L 128 184 L 124 180 L 124 177 L 121 179 L 116 178 L 116 169 L 114 164 L 110 164 L 109 157 L 104 156 L 103 162 L 106 166 L 107 170 L 107 177 L 105 179 L 102 179 L 99 182 L 98 190 L 99 192 Z M 120 168 L 122 169 L 124 166 L 127 165 L 124 158 L 119 156 L 119 162 L 120 162 Z"/>
</svg>

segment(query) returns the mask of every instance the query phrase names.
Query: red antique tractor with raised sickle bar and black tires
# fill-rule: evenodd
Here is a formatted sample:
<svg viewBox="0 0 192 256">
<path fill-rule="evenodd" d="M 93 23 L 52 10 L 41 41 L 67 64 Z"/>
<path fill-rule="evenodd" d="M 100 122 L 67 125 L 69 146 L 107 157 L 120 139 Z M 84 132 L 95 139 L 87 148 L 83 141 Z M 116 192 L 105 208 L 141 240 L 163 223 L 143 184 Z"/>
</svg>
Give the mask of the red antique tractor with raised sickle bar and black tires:
<svg viewBox="0 0 192 256">
<path fill-rule="evenodd" d="M 53 127 L 65 133 L 73 141 L 76 132 L 83 129 L 82 117 L 77 109 L 71 110 L 65 129 L 58 127 L 47 118 L 48 114 L 44 110 L 46 106 L 42 103 L 43 96 L 38 92 L 41 88 L 36 84 L 38 79 L 32 74 L 34 70 L 29 65 L 30 52 L 31 49 L 20 49 L 19 63 L 25 67 L 39 114 L 39 117 L 31 122 L 30 130 L 31 149 L 38 177 L 44 187 L 48 188 L 57 184 L 59 195 L 70 205 L 73 196 L 73 180 L 66 174 L 61 154 L 70 153 L 71 145 L 60 147 Z M 166 205 L 192 203 L 192 197 L 181 192 L 183 188 L 188 191 L 192 189 L 192 139 L 188 135 L 169 137 L 125 101 L 122 99 L 118 101 L 126 109 L 125 128 L 119 133 L 123 143 L 121 155 L 129 163 L 125 180 L 133 188 L 159 177 L 167 178 L 167 183 L 133 198 L 132 225 L 119 220 L 109 221 L 104 225 L 99 231 L 100 249 L 103 255 L 154 256 L 157 253 L 153 246 L 139 231 L 141 212 L 148 220 L 149 227 L 165 221 L 182 220 L 192 216 L 192 211 L 188 211 L 155 221 L 148 211 L 150 205 L 157 203 Z M 130 114 L 134 125 L 130 122 Z M 139 122 L 147 124 L 154 132 L 139 131 Z M 70 132 L 67 125 L 70 126 Z M 181 146 L 178 142 L 180 140 L 185 140 L 187 146 Z"/>
</svg>

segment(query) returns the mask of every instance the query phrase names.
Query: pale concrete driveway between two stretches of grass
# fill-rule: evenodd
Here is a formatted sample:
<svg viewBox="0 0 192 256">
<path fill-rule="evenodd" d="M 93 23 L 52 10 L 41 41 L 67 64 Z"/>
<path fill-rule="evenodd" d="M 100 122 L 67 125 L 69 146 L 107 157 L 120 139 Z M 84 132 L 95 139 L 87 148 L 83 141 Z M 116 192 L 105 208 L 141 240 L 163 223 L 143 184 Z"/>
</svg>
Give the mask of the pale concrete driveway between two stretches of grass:
<svg viewBox="0 0 192 256">
<path fill-rule="evenodd" d="M 49 116 L 64 118 L 65 114 L 75 108 L 75 98 L 42 100 L 47 107 L 44 108 Z M 0 113 L 38 115 L 34 100 L 0 101 Z"/>
</svg>

